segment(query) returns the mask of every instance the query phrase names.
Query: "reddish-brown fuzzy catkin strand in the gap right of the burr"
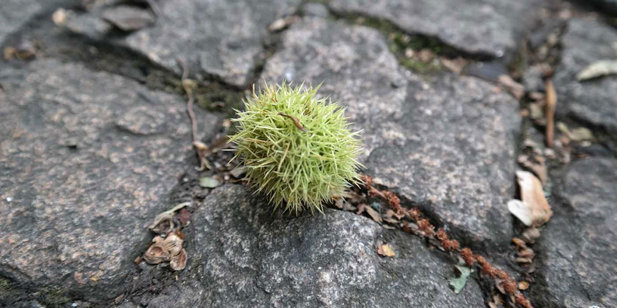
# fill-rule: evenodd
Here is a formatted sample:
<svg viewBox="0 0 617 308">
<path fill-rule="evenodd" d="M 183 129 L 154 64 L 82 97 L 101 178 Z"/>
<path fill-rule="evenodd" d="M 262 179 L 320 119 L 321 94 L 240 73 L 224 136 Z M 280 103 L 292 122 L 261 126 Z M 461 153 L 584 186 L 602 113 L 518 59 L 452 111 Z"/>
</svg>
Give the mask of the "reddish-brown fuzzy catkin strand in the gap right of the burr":
<svg viewBox="0 0 617 308">
<path fill-rule="evenodd" d="M 462 262 L 465 263 L 466 268 L 470 269 L 470 272 L 472 269 L 478 268 L 479 278 L 492 281 L 495 288 L 503 290 L 503 294 L 507 295 L 507 299 L 510 299 L 511 304 L 516 304 L 523 308 L 532 308 L 529 299 L 527 299 L 518 288 L 518 283 L 516 280 L 511 278 L 507 272 L 498 269 L 489 263 L 483 256 L 474 254 L 470 248 L 461 247 L 457 240 L 452 240 L 449 238 L 449 235 L 444 229 L 439 228 L 435 230 L 436 227 L 432 225 L 428 219 L 426 219 L 419 208 L 402 207 L 400 205 L 399 197 L 392 197 L 393 195 L 395 196 L 394 192 L 389 190 L 379 190 L 374 186 L 374 181 L 370 176 L 362 175 L 360 179 L 363 182 L 362 187 L 354 187 L 354 195 L 359 200 L 345 200 L 344 198 L 339 198 L 338 200 L 342 201 L 336 202 L 336 206 L 338 208 L 349 208 L 350 211 L 355 211 L 353 205 L 344 204 L 348 202 L 354 203 L 358 208 L 358 211 L 355 211 L 355 213 L 363 214 L 366 212 L 369 216 L 371 216 L 371 218 L 373 218 L 370 214 L 370 210 L 368 210 L 372 209 L 372 207 L 368 206 L 368 204 L 371 203 L 371 198 L 380 198 L 384 201 L 384 204 L 380 206 L 380 211 L 373 209 L 373 211 L 381 215 L 379 220 L 402 229 L 407 233 L 412 233 L 420 237 L 427 238 L 429 243 L 436 245 L 437 248 L 440 248 L 442 251 L 447 253 L 458 253 L 462 259 Z M 401 216 L 397 216 L 398 214 Z M 378 221 L 378 219 L 375 218 L 373 218 L 373 220 Z M 462 278 L 462 276 L 463 272 L 461 271 L 460 278 Z M 460 286 L 460 283 L 460 281 L 457 282 L 457 286 Z"/>
</svg>

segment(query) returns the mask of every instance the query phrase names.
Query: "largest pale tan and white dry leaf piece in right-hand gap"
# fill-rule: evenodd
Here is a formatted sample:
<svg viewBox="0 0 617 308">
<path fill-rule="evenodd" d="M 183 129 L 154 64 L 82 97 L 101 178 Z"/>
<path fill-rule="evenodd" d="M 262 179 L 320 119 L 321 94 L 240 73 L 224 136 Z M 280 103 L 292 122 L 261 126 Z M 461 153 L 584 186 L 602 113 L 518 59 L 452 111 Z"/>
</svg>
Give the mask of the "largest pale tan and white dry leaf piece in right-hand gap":
<svg viewBox="0 0 617 308">
<path fill-rule="evenodd" d="M 531 208 L 531 225 L 539 227 L 549 221 L 553 212 L 544 197 L 542 183 L 528 171 L 516 171 L 516 179 L 521 187 L 521 198 Z"/>
</svg>

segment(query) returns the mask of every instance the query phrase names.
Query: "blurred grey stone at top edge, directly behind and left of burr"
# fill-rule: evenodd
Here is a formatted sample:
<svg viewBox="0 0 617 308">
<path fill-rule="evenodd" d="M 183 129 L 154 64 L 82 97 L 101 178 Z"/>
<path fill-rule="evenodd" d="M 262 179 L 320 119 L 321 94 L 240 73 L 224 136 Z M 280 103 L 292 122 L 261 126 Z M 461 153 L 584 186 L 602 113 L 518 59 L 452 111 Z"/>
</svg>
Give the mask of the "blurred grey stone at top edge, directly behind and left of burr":
<svg viewBox="0 0 617 308">
<path fill-rule="evenodd" d="M 189 67 L 192 75 L 221 79 L 244 87 L 252 81 L 255 67 L 263 57 L 267 26 L 277 18 L 292 14 L 300 0 L 159 1 L 160 15 L 154 25 L 133 31 L 122 38 L 103 39 L 110 44 L 129 47 L 178 75 L 176 57 Z M 87 25 L 96 22 L 109 7 L 97 6 L 88 23 L 69 28 L 91 38 L 100 37 Z M 94 19 L 94 20 L 93 20 Z M 82 25 L 82 26 L 80 26 Z M 100 28 L 100 27 L 99 27 Z"/>
</svg>

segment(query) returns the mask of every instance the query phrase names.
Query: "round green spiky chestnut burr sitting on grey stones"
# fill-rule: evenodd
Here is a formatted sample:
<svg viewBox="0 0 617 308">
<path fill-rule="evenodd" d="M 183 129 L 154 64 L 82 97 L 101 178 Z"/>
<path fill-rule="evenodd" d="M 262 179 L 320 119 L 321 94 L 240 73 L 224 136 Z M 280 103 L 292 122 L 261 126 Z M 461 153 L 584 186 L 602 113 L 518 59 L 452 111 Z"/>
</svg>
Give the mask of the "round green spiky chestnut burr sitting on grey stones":
<svg viewBox="0 0 617 308">
<path fill-rule="evenodd" d="M 249 183 L 265 192 L 275 209 L 323 212 L 323 203 L 360 181 L 361 142 L 344 108 L 317 99 L 317 88 L 265 85 L 236 111 L 230 137 Z"/>
</svg>

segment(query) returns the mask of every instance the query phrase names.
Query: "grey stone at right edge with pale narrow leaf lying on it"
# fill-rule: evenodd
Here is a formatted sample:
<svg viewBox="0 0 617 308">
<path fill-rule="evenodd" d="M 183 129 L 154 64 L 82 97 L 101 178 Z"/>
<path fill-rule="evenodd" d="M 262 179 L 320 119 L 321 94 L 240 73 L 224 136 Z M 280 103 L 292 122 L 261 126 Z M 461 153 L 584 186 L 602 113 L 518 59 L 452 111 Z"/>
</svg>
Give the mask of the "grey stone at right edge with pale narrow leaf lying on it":
<svg viewBox="0 0 617 308">
<path fill-rule="evenodd" d="M 617 59 L 617 30 L 574 18 L 563 35 L 563 54 L 555 73 L 557 116 L 571 117 L 617 136 L 617 76 L 577 81 L 576 74 L 598 60 Z"/>
</svg>

